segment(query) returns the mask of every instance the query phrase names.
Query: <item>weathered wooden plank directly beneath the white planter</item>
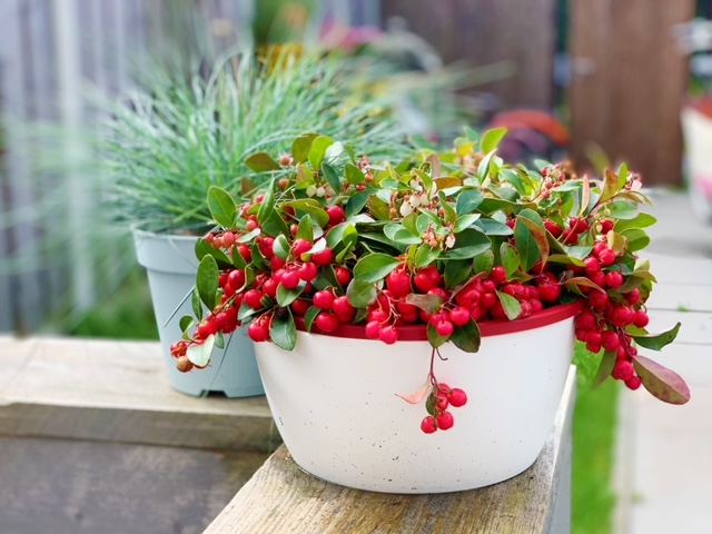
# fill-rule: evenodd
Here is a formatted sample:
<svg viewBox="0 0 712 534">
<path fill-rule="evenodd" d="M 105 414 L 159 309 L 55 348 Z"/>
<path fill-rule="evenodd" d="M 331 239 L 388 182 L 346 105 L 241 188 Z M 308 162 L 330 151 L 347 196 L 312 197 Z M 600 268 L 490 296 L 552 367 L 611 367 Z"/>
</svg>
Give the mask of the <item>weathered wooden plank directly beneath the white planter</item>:
<svg viewBox="0 0 712 534">
<path fill-rule="evenodd" d="M 573 369 L 573 368 L 572 368 Z M 570 446 L 575 372 L 568 375 L 554 429 L 532 467 L 501 484 L 434 495 L 363 492 L 303 472 L 280 447 L 205 534 L 298 532 L 568 532 L 552 515 Z M 566 510 L 560 510 L 568 517 Z"/>
</svg>

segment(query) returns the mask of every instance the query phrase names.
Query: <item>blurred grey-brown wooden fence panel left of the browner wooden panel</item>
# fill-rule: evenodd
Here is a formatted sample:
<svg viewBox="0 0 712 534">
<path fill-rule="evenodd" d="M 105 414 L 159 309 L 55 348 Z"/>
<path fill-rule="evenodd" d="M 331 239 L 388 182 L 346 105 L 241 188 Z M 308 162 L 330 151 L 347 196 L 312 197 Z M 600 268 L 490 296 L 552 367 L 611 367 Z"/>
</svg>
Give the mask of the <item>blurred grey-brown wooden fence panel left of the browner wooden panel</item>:
<svg viewBox="0 0 712 534">
<path fill-rule="evenodd" d="M 413 9 L 409 0 L 383 0 L 382 13 L 386 26 L 389 18 L 405 19 L 408 29 L 429 42 L 445 63 L 512 61 L 514 76 L 474 89 L 494 93 L 503 108 L 551 109 L 555 6 L 552 0 L 444 0 Z"/>
</svg>

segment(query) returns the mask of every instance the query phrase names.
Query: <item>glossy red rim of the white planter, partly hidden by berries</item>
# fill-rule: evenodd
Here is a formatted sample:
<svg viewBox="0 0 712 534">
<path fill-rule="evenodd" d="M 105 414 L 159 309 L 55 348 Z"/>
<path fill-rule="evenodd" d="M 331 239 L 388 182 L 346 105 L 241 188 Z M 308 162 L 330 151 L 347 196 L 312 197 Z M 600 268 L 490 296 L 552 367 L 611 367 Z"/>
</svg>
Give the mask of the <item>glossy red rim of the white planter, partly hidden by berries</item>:
<svg viewBox="0 0 712 534">
<path fill-rule="evenodd" d="M 515 332 L 532 330 L 543 326 L 553 325 L 562 320 L 574 317 L 583 309 L 583 300 L 578 299 L 571 304 L 561 304 L 551 308 L 543 309 L 526 319 L 515 320 L 483 320 L 477 323 L 482 337 L 501 336 L 504 334 L 513 334 Z M 304 317 L 294 318 L 297 329 L 305 332 Z M 427 332 L 425 325 L 404 325 L 398 326 L 399 342 L 427 342 Z M 348 337 L 352 339 L 368 339 L 366 337 L 365 325 L 339 325 L 335 330 L 323 332 L 316 325 L 312 325 L 312 334 L 322 334 L 330 337 Z"/>
</svg>

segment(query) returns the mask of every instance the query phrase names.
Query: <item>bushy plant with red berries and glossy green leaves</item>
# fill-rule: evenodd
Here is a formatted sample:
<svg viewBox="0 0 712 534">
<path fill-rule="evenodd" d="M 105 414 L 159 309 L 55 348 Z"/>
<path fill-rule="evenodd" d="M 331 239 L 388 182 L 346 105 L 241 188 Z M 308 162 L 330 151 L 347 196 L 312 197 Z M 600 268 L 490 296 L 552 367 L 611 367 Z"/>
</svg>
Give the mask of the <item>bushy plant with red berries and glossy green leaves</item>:
<svg viewBox="0 0 712 534">
<path fill-rule="evenodd" d="M 432 364 L 445 343 L 476 353 L 485 324 L 577 306 L 575 336 L 595 362 L 594 384 L 612 377 L 688 402 L 684 380 L 637 350 L 661 349 L 680 328 L 646 329 L 655 278 L 640 254 L 655 219 L 639 211 L 649 202 L 640 177 L 625 165 L 601 179 L 566 162 L 505 165 L 496 155 L 505 135 L 468 131 L 451 151 L 414 149 L 393 162 L 316 134 L 288 152 L 249 156 L 264 185 L 251 198 L 208 191 L 215 227 L 196 247 L 195 316 L 181 319 L 171 348 L 178 368 L 209 365 L 239 326 L 285 350 L 297 330 L 350 328 L 397 345 L 415 329 Z M 404 398 L 427 398 L 425 433 L 452 427 L 448 406 L 467 400 L 433 365 L 424 388 Z"/>
</svg>

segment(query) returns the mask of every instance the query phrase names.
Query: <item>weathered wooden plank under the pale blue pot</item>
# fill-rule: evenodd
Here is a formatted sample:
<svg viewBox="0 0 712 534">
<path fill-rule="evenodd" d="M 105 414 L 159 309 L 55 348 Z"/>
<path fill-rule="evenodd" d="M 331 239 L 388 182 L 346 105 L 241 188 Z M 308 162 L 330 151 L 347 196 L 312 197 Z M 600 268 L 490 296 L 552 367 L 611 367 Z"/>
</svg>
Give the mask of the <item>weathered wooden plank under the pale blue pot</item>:
<svg viewBox="0 0 712 534">
<path fill-rule="evenodd" d="M 265 397 L 171 389 L 157 342 L 0 337 L 0 350 L 10 369 L 0 434 L 245 451 L 279 443 Z"/>
</svg>

